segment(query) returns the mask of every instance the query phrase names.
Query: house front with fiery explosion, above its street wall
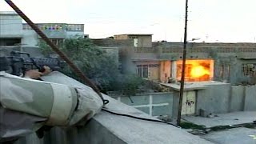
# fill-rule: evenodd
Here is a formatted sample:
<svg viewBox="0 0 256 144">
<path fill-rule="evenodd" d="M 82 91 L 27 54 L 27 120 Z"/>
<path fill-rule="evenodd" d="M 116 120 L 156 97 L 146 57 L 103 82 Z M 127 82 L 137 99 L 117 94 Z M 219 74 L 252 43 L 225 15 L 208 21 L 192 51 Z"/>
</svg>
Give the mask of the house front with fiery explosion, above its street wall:
<svg viewBox="0 0 256 144">
<path fill-rule="evenodd" d="M 111 41 L 119 47 L 119 62 L 124 73 L 157 82 L 179 81 L 183 43 L 147 41 L 151 37 L 150 34 L 121 34 L 112 40 L 105 39 L 105 43 Z M 120 40 L 129 41 L 130 45 L 118 46 Z M 100 45 L 104 45 L 103 40 Z M 234 85 L 256 83 L 256 43 L 188 43 L 185 79 L 186 82 L 218 81 Z"/>
</svg>

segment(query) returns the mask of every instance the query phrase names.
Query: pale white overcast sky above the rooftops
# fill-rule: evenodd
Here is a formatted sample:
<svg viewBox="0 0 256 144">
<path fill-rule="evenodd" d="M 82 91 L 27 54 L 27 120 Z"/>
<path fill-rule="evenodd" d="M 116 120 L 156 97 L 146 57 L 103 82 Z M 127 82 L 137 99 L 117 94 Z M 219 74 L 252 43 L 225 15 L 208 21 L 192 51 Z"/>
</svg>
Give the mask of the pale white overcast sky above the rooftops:
<svg viewBox="0 0 256 144">
<path fill-rule="evenodd" d="M 90 38 L 153 34 L 182 42 L 185 0 L 13 0 L 33 22 L 85 24 Z M 189 0 L 188 40 L 256 42 L 256 0 Z M 0 0 L 1 11 L 12 11 Z"/>
</svg>

